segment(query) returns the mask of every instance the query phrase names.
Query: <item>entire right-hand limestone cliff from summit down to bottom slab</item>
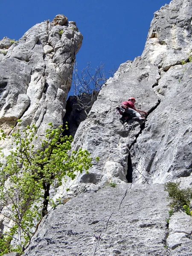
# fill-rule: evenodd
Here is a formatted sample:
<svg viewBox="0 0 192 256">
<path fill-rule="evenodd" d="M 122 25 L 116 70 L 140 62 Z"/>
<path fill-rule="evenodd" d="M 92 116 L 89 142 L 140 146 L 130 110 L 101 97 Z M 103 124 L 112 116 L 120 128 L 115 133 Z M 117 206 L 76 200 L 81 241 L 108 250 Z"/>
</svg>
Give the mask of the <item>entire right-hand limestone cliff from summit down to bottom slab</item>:
<svg viewBox="0 0 192 256">
<path fill-rule="evenodd" d="M 192 217 L 177 212 L 167 224 L 163 187 L 192 182 L 191 14 L 190 0 L 155 12 L 141 57 L 102 88 L 74 138 L 74 148 L 87 148 L 99 163 L 78 175 L 75 196 L 49 212 L 24 255 L 192 254 Z M 148 112 L 145 124 L 119 122 L 115 107 L 129 96 Z"/>
</svg>

